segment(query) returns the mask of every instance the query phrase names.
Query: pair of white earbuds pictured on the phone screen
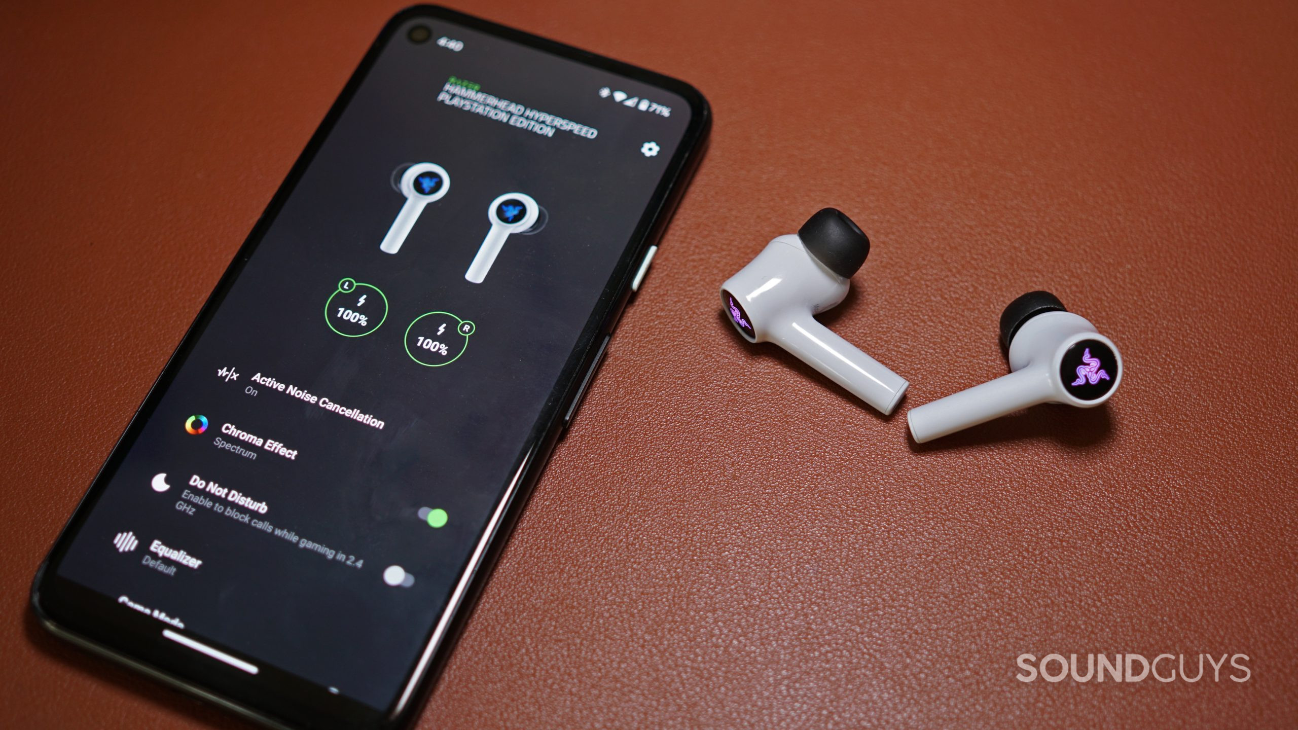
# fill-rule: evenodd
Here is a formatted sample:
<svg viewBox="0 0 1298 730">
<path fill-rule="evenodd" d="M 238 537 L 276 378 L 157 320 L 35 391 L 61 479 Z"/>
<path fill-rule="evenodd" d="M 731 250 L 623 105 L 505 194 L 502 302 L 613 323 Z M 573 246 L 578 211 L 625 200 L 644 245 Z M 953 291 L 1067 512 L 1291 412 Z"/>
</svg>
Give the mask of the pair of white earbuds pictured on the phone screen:
<svg viewBox="0 0 1298 730">
<path fill-rule="evenodd" d="M 450 190 L 450 175 L 441 165 L 419 162 L 406 168 L 401 174 L 398 187 L 406 201 L 396 220 L 392 221 L 387 235 L 383 236 L 383 243 L 379 244 L 379 248 L 386 253 L 401 251 L 401 244 L 410 235 L 424 207 L 441 200 Z M 491 271 L 491 265 L 496 262 L 501 248 L 505 247 L 505 239 L 509 238 L 509 234 L 531 235 L 545 225 L 541 207 L 524 192 L 506 192 L 497 196 L 487 207 L 487 220 L 491 222 L 491 230 L 487 231 L 487 238 L 478 247 L 478 255 L 474 256 L 472 264 L 465 271 L 465 278 L 475 284 L 480 284 L 487 278 L 487 273 Z"/>
</svg>

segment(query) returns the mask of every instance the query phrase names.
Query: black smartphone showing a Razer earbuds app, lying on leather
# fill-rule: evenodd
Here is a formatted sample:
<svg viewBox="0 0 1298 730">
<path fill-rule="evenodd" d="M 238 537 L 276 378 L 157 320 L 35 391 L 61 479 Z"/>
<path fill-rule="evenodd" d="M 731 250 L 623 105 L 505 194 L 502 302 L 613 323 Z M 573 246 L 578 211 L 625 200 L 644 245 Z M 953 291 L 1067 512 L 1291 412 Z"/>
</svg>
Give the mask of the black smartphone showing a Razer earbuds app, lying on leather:
<svg viewBox="0 0 1298 730">
<path fill-rule="evenodd" d="M 709 126 L 680 81 L 397 14 L 51 549 L 42 622 L 271 726 L 404 726 Z"/>
</svg>

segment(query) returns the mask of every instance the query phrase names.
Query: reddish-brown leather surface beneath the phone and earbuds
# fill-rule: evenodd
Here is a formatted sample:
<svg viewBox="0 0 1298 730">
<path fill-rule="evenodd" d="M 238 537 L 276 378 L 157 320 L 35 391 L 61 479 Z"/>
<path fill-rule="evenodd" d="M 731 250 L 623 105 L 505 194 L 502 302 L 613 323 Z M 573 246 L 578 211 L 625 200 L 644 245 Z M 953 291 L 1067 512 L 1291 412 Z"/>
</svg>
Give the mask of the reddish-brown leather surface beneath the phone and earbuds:
<svg viewBox="0 0 1298 730">
<path fill-rule="evenodd" d="M 27 587 L 398 6 L 0 10 L 0 724 L 243 726 L 45 635 Z M 422 727 L 1298 726 L 1298 6 L 461 9 L 716 123 Z M 823 205 L 874 240 L 824 320 L 910 379 L 892 418 L 716 312 Z M 1121 347 L 1120 392 L 910 444 L 1031 288 Z M 1024 685 L 1023 652 L 1253 675 Z"/>
</svg>

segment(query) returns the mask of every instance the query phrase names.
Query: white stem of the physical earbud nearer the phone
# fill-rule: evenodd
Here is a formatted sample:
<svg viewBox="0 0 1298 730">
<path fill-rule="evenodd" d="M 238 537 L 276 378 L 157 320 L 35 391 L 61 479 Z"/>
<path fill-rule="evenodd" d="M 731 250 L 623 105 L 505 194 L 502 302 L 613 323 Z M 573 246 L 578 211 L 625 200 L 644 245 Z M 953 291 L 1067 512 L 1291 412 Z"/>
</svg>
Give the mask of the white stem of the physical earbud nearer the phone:
<svg viewBox="0 0 1298 730">
<path fill-rule="evenodd" d="M 785 321 L 767 336 L 884 416 L 910 384 L 811 316 Z"/>
</svg>

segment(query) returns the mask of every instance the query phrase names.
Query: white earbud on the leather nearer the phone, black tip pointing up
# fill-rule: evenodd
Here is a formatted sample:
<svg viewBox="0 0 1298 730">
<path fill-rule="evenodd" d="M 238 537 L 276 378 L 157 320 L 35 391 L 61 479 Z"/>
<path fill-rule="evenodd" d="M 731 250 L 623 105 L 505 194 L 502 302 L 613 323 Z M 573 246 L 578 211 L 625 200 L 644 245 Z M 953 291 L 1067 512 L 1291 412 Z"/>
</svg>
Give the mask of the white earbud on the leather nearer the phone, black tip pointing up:
<svg viewBox="0 0 1298 730">
<path fill-rule="evenodd" d="M 848 296 L 868 253 L 870 239 L 857 223 L 824 208 L 727 279 L 722 309 L 744 339 L 774 342 L 888 414 L 909 383 L 813 317 Z"/>
</svg>

